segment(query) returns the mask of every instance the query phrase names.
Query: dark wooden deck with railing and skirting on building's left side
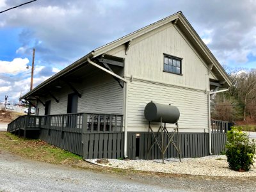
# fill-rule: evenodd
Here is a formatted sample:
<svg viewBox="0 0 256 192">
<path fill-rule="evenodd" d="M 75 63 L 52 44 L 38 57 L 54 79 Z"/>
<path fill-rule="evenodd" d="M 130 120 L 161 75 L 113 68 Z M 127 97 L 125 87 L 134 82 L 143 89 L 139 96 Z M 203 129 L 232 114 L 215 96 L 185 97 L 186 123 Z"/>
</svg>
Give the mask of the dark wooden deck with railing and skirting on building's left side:
<svg viewBox="0 0 256 192">
<path fill-rule="evenodd" d="M 20 116 L 7 131 L 36 137 L 84 159 L 124 157 L 122 115 L 72 113 Z"/>
</svg>

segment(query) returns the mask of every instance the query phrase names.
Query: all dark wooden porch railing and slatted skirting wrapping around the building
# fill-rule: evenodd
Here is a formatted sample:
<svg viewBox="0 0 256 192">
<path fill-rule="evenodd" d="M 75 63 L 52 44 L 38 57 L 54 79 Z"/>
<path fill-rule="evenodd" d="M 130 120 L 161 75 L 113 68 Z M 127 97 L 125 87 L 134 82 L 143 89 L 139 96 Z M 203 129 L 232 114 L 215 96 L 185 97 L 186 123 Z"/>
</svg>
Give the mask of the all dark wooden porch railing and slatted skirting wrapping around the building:
<svg viewBox="0 0 256 192">
<path fill-rule="evenodd" d="M 8 132 L 19 136 L 34 137 L 63 148 L 84 159 L 124 157 L 123 116 L 94 113 L 72 113 L 63 115 L 20 116 L 8 124 Z M 211 121 L 212 154 L 225 150 L 228 122 Z M 154 138 L 148 132 L 128 132 L 127 152 L 129 159 L 160 159 L 157 146 L 147 154 L 149 140 Z M 177 140 L 175 135 L 174 140 Z M 182 157 L 208 156 L 209 134 L 180 132 Z M 164 138 L 168 143 L 168 138 Z M 177 152 L 170 145 L 166 157 L 177 157 Z"/>
</svg>

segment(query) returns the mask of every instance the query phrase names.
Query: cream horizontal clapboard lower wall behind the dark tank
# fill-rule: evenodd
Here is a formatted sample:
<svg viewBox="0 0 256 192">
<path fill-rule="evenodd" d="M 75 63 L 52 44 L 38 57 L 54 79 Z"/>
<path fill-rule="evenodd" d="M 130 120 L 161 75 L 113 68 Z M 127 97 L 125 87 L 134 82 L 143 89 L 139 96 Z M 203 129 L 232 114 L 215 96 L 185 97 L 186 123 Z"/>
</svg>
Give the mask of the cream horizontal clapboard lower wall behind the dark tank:
<svg viewBox="0 0 256 192">
<path fill-rule="evenodd" d="M 127 96 L 127 131 L 148 131 L 144 109 L 151 100 L 179 108 L 180 132 L 208 131 L 207 94 L 203 91 L 134 80 L 129 83 Z M 159 123 L 152 127 L 157 131 Z M 167 127 L 175 125 L 167 124 Z"/>
</svg>

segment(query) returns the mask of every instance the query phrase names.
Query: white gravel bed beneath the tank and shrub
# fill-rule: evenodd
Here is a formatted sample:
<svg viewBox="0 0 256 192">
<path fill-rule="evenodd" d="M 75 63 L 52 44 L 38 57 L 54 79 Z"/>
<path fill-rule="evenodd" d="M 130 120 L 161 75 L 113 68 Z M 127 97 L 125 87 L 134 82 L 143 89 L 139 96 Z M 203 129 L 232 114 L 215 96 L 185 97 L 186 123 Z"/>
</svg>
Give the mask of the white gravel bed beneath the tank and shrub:
<svg viewBox="0 0 256 192">
<path fill-rule="evenodd" d="M 97 159 L 87 159 L 94 164 Z M 226 176 L 226 177 L 253 177 L 256 176 L 256 168 L 252 166 L 249 172 L 235 172 L 228 168 L 226 156 L 206 156 L 199 158 L 171 158 L 157 160 L 118 160 L 108 159 L 109 163 L 99 164 L 112 168 L 143 170 L 147 172 L 179 173 L 188 175 Z"/>
</svg>

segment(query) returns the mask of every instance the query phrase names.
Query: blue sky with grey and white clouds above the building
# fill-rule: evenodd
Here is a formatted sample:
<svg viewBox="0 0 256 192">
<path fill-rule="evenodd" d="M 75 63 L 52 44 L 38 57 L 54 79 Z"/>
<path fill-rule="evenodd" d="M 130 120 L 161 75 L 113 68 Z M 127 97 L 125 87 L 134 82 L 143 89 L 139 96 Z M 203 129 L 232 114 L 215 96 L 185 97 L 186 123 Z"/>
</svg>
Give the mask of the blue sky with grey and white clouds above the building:
<svg viewBox="0 0 256 192">
<path fill-rule="evenodd" d="M 29 0 L 0 0 L 0 12 Z M 243 3 L 242 3 L 243 2 Z M 0 100 L 18 102 L 74 61 L 182 11 L 225 68 L 256 68 L 254 0 L 37 0 L 0 13 Z"/>
</svg>

